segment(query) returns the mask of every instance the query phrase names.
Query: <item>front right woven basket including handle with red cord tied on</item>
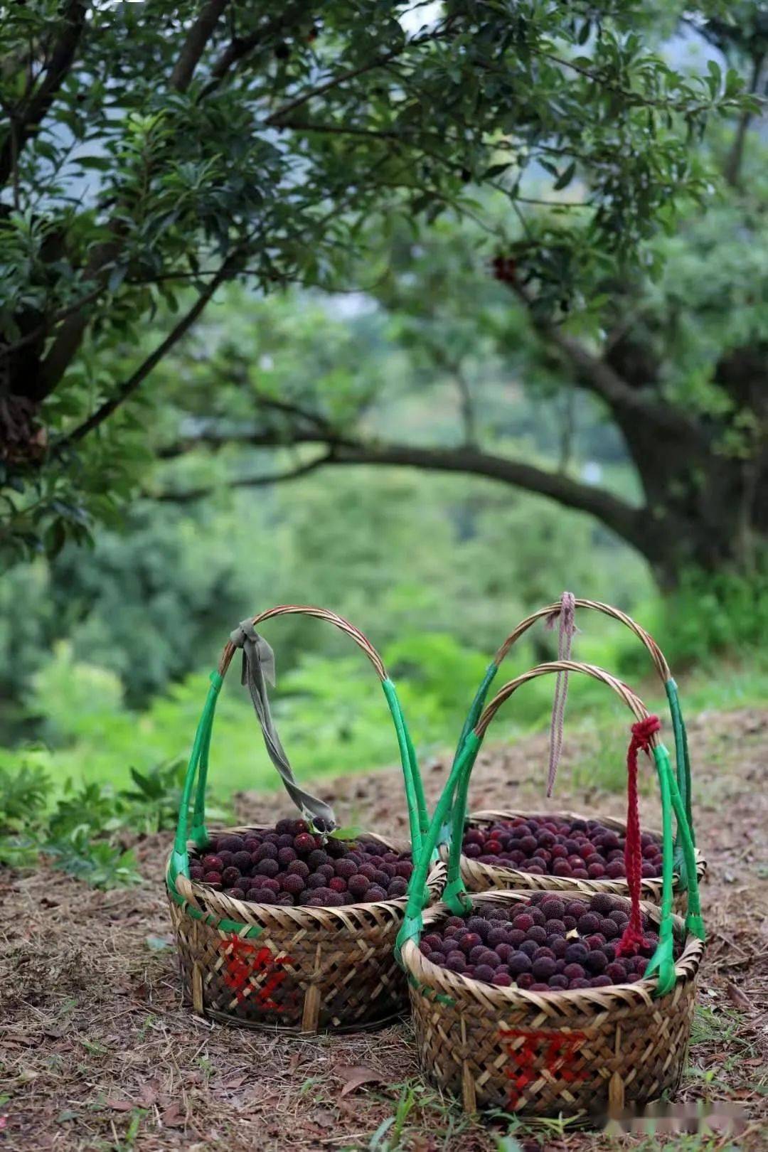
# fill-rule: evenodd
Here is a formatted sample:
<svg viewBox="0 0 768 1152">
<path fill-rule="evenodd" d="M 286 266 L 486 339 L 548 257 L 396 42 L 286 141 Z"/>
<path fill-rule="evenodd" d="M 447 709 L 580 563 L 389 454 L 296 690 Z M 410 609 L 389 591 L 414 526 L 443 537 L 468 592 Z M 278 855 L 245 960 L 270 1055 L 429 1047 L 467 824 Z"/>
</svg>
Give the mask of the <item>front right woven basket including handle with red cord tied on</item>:
<svg viewBox="0 0 768 1152">
<path fill-rule="evenodd" d="M 661 907 L 649 903 L 641 907 L 651 922 L 659 925 L 660 942 L 641 980 L 604 988 L 525 992 L 448 971 L 427 960 L 418 947 L 425 930 L 451 915 L 467 916 L 472 909 L 472 899 L 461 877 L 451 892 L 446 889 L 444 903 L 425 915 L 419 907 L 419 886 L 428 869 L 431 848 L 447 820 L 454 829 L 450 849 L 454 858 L 458 858 L 463 813 L 456 805 L 456 794 L 463 771 L 467 765 L 471 767 L 502 702 L 527 681 L 562 670 L 585 673 L 602 681 L 638 720 L 647 718 L 639 697 L 593 665 L 553 661 L 505 684 L 467 735 L 451 770 L 429 832 L 421 842 L 405 924 L 398 935 L 421 1067 L 441 1089 L 459 1097 L 469 1112 L 493 1107 L 531 1116 L 586 1119 L 674 1093 L 685 1066 L 704 925 L 692 866 L 687 915 L 682 919 L 671 914 L 672 813 L 690 865 L 693 844 L 669 755 L 657 736 L 651 738 L 649 745 L 662 796 L 662 900 Z M 529 896 L 530 889 L 488 892 L 482 904 L 524 902 Z M 674 960 L 675 946 L 679 952 L 677 960 Z"/>
</svg>

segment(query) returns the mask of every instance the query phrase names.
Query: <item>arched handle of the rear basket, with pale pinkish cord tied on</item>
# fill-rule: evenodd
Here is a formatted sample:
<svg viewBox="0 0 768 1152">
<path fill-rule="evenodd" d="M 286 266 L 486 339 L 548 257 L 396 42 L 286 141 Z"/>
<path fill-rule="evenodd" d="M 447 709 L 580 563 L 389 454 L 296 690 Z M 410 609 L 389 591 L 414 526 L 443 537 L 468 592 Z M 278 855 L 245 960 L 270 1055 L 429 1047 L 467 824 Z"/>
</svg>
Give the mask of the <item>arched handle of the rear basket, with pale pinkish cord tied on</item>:
<svg viewBox="0 0 768 1152">
<path fill-rule="evenodd" d="M 675 737 L 675 765 L 677 770 L 677 787 L 683 797 L 683 803 L 685 806 L 685 818 L 687 826 L 695 844 L 695 833 L 693 828 L 693 811 L 692 811 L 692 797 L 691 797 L 691 757 L 689 753 L 687 733 L 685 730 L 685 722 L 683 720 L 683 713 L 680 710 L 679 696 L 677 692 L 677 684 L 672 679 L 669 665 L 664 658 L 664 653 L 661 651 L 656 642 L 654 641 L 651 632 L 646 631 L 641 624 L 638 624 L 637 620 L 632 620 L 625 612 L 621 608 L 615 608 L 610 604 L 602 604 L 600 600 L 576 600 L 577 608 L 592 608 L 595 612 L 601 612 L 606 616 L 610 616 L 613 620 L 617 620 L 619 623 L 629 628 L 631 632 L 637 636 L 640 643 L 647 649 L 651 657 L 651 661 L 656 670 L 656 674 L 664 688 L 667 694 L 667 699 L 669 702 L 669 712 L 672 721 L 672 734 Z M 543 608 L 539 608 L 538 612 L 533 612 L 525 620 L 522 620 L 519 624 L 509 634 L 503 644 L 497 649 L 492 662 L 488 665 L 486 674 L 482 679 L 480 687 L 478 688 L 477 695 L 472 702 L 467 717 L 464 721 L 464 727 L 462 728 L 462 734 L 458 738 L 458 745 L 456 749 L 456 756 L 462 750 L 462 745 L 466 740 L 466 736 L 478 722 L 480 712 L 486 702 L 486 696 L 488 695 L 488 689 L 494 681 L 499 668 L 509 654 L 509 651 L 514 645 L 520 639 L 522 636 L 527 632 L 530 628 L 533 627 L 539 620 L 547 620 L 553 616 L 557 616 L 561 611 L 560 601 L 555 604 L 549 604 Z M 683 884 L 689 887 L 689 876 L 687 866 L 685 864 L 685 857 L 682 851 L 682 846 L 678 841 L 675 851 L 675 866 L 680 872 L 680 878 Z"/>
</svg>

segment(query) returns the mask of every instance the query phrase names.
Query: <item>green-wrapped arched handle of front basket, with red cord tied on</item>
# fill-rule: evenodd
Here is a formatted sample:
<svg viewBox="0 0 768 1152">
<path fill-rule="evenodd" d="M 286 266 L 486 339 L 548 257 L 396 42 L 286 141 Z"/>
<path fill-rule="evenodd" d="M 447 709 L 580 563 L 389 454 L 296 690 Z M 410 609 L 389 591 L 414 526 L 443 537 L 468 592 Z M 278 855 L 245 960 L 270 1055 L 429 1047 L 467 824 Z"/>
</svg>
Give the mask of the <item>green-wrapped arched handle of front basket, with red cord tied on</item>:
<svg viewBox="0 0 768 1152">
<path fill-rule="evenodd" d="M 466 889 L 464 888 L 464 884 L 461 879 L 459 871 L 462 838 L 464 832 L 464 821 L 466 818 L 466 795 L 464 791 L 464 797 L 462 799 L 458 793 L 458 786 L 464 778 L 469 779 L 488 725 L 504 700 L 516 692 L 522 684 L 527 683 L 530 680 L 535 680 L 538 676 L 550 675 L 557 672 L 579 672 L 587 676 L 592 676 L 594 680 L 599 680 L 611 688 L 619 699 L 622 699 L 632 711 L 637 720 L 644 720 L 648 715 L 645 704 L 631 688 L 624 684 L 621 680 L 617 680 L 615 676 L 611 676 L 611 674 L 606 672 L 603 668 L 596 667 L 596 665 L 579 664 L 575 660 L 554 660 L 549 664 L 541 664 L 535 668 L 531 668 L 529 672 L 523 673 L 515 680 L 510 680 L 507 684 L 504 684 L 503 688 L 501 688 L 495 695 L 493 700 L 491 700 L 487 705 L 477 721 L 474 729 L 467 734 L 464 745 L 454 763 L 450 776 L 438 802 L 438 806 L 429 825 L 429 831 L 421 842 L 420 854 L 416 861 L 416 866 L 409 885 L 405 920 L 397 938 L 398 950 L 402 948 L 402 945 L 406 939 L 418 937 L 421 931 L 421 911 L 424 908 L 421 893 L 431 854 L 438 842 L 440 829 L 442 828 L 444 821 L 449 818 L 451 821 L 451 834 L 448 863 L 448 884 L 442 899 L 456 912 L 465 912 L 472 907 L 472 902 L 467 896 Z M 695 877 L 693 841 L 689 832 L 683 799 L 677 787 L 677 781 L 675 780 L 675 774 L 671 768 L 667 749 L 655 735 L 651 738 L 649 743 L 653 749 L 661 790 L 663 862 L 659 947 L 648 964 L 647 971 L 649 973 L 653 973 L 656 970 L 659 971 L 657 992 L 662 993 L 669 991 L 669 988 L 675 984 L 671 920 L 672 811 L 677 818 L 678 833 L 682 839 L 689 872 L 692 877 L 691 889 L 689 893 L 689 914 L 686 917 L 686 926 L 691 932 L 704 938 L 704 925 L 701 923 L 701 910 L 699 907 L 699 889 Z"/>
</svg>

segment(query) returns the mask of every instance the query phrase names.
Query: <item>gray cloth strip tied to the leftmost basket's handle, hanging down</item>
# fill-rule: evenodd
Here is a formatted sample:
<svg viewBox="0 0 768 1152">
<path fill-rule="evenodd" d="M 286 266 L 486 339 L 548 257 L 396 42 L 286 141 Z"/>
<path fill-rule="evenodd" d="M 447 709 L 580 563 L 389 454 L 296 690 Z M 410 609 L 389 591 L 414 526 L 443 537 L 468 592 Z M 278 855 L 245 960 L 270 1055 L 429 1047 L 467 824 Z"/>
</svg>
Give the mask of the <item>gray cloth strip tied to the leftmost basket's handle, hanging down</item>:
<svg viewBox="0 0 768 1152">
<path fill-rule="evenodd" d="M 286 751 L 280 742 L 277 729 L 272 719 L 269 710 L 269 698 L 267 696 L 267 682 L 274 687 L 275 683 L 275 654 L 260 636 L 250 620 L 242 620 L 237 628 L 230 634 L 230 641 L 235 647 L 243 650 L 243 672 L 241 683 L 248 687 L 253 703 L 264 743 L 266 744 L 269 759 L 280 773 L 286 791 L 302 814 L 312 821 L 319 832 L 333 832 L 337 827 L 336 817 L 329 804 L 305 791 L 296 783 L 294 770 L 290 766 Z"/>
</svg>

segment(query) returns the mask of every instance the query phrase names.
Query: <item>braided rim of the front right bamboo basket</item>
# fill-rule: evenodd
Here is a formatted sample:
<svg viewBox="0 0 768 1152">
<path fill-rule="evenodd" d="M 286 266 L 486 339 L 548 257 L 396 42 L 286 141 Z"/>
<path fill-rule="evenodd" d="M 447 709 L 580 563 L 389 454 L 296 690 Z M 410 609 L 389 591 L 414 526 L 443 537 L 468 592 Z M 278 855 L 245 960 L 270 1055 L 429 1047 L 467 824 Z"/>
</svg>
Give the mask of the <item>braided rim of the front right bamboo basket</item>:
<svg viewBox="0 0 768 1152">
<path fill-rule="evenodd" d="M 496 892 L 484 892 L 474 894 L 481 902 L 491 903 L 518 903 L 529 900 L 530 890 L 500 889 Z M 619 897 L 622 899 L 622 897 Z M 629 901 L 626 901 L 629 904 Z M 661 909 L 656 904 L 642 901 L 642 911 L 656 924 L 661 919 Z M 424 912 L 423 930 L 419 935 L 427 931 L 427 925 L 438 919 L 454 916 L 448 904 L 442 901 L 433 904 Z M 678 938 L 683 938 L 683 952 L 675 961 L 675 987 L 667 995 L 674 995 L 682 986 L 692 982 L 698 976 L 699 965 L 704 955 L 705 942 L 685 930 L 685 922 L 679 916 L 672 916 L 672 930 Z M 418 948 L 413 938 L 406 940 L 402 947 L 403 965 L 416 986 L 434 990 L 444 995 L 451 992 L 459 996 L 474 995 L 486 1002 L 491 1002 L 494 1008 L 530 1008 L 539 1013 L 548 1014 L 554 1007 L 580 1009 L 581 1014 L 598 1015 L 611 1008 L 637 1008 L 640 1006 L 652 1007 L 655 1002 L 653 991 L 656 987 L 655 980 L 637 980 L 633 984 L 611 984 L 603 988 L 573 988 L 562 991 L 560 988 L 547 993 L 526 992 L 524 988 L 500 987 L 487 984 L 485 980 L 477 980 L 472 976 L 463 976 L 461 972 L 451 972 L 450 969 L 439 968 L 433 964 Z M 426 977 L 424 979 L 423 977 Z M 555 1021 L 554 1023 L 560 1023 Z"/>
</svg>

